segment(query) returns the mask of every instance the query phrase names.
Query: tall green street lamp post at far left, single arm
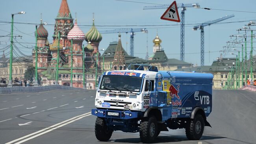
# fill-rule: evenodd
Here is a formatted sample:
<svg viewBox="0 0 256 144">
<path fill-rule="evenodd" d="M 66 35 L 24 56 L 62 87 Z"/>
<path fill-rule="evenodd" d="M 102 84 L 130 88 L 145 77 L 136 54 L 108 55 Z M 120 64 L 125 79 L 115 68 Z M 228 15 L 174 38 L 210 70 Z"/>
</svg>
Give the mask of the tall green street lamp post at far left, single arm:
<svg viewBox="0 0 256 144">
<path fill-rule="evenodd" d="M 13 66 L 13 16 L 16 14 L 25 14 L 25 11 L 21 11 L 19 13 L 11 14 L 11 45 L 10 45 L 10 73 L 9 73 L 9 83 L 8 87 L 13 86 L 12 82 L 12 66 Z"/>
</svg>

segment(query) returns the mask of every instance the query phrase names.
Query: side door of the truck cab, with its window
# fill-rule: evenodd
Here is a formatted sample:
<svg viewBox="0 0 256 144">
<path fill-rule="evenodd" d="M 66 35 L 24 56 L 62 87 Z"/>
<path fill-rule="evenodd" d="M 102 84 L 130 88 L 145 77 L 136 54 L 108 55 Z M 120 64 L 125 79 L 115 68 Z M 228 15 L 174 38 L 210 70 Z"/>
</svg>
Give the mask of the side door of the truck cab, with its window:
<svg viewBox="0 0 256 144">
<path fill-rule="evenodd" d="M 156 106 L 157 99 L 156 99 L 155 79 L 146 79 L 143 98 L 144 98 L 143 108 L 148 108 L 149 106 Z"/>
</svg>

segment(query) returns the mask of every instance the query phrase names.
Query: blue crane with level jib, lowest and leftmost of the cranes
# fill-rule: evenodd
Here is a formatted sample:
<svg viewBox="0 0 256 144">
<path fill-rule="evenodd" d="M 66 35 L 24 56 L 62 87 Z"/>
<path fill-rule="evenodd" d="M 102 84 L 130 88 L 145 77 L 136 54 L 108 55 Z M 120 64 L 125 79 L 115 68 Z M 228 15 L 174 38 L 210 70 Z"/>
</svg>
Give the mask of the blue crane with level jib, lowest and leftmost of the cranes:
<svg viewBox="0 0 256 144">
<path fill-rule="evenodd" d="M 130 32 L 130 56 L 134 56 L 134 32 L 143 32 L 147 33 L 147 29 L 139 29 L 139 28 L 127 28 L 127 29 L 113 29 L 113 30 L 107 30 L 107 31 L 101 31 L 102 34 L 110 34 L 110 33 L 128 33 Z"/>
</svg>

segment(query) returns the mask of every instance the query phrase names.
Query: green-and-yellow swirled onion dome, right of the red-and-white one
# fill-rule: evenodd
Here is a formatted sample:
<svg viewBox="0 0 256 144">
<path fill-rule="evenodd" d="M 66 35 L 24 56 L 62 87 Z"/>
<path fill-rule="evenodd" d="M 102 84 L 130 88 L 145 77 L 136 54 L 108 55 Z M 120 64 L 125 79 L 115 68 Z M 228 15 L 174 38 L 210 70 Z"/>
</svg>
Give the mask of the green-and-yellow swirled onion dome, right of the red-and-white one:
<svg viewBox="0 0 256 144">
<path fill-rule="evenodd" d="M 94 19 L 93 19 L 93 26 L 91 29 L 85 34 L 85 40 L 91 41 L 91 42 L 100 42 L 102 40 L 102 36 L 100 32 L 96 29 L 94 25 Z"/>
</svg>

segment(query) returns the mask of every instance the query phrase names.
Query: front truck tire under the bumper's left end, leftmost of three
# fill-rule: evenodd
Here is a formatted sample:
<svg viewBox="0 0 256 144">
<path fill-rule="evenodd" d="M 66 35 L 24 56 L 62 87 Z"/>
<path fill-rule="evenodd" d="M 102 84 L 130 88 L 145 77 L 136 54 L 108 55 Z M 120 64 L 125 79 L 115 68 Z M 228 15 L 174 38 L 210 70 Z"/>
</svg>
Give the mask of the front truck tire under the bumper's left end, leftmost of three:
<svg viewBox="0 0 256 144">
<path fill-rule="evenodd" d="M 113 133 L 112 129 L 106 126 L 106 122 L 103 118 L 97 117 L 95 122 L 95 136 L 100 141 L 108 141 Z"/>
</svg>

